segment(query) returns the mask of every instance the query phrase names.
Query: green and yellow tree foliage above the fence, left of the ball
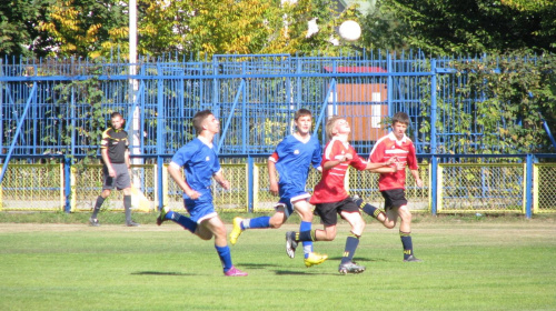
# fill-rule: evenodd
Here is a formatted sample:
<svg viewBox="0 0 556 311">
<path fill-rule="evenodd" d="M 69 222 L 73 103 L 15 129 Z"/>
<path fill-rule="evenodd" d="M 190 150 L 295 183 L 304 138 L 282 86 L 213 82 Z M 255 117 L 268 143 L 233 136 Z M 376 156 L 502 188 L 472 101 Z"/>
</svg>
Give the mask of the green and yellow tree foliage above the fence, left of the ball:
<svg viewBox="0 0 556 311">
<path fill-rule="evenodd" d="M 295 2 L 295 1 L 294 1 Z M 355 10 L 332 0 L 138 0 L 138 52 L 337 54 L 336 28 Z M 108 57 L 129 51 L 128 3 L 116 0 L 10 0 L 0 4 L 0 56 Z M 319 32 L 307 37 L 317 18 Z M 340 41 L 341 42 L 341 41 Z M 360 48 L 360 47 L 359 47 Z"/>
</svg>

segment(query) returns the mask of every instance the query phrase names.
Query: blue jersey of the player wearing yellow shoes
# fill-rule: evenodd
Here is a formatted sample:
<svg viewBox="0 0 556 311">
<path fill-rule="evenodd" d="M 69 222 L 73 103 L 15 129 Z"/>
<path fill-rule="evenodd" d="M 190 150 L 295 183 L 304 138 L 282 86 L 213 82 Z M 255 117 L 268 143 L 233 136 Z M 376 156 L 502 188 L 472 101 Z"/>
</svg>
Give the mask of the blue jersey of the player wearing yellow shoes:
<svg viewBox="0 0 556 311">
<path fill-rule="evenodd" d="M 296 136 L 288 136 L 280 141 L 269 158 L 276 163 L 279 174 L 280 197 L 305 192 L 309 165 L 320 167 L 321 157 L 320 142 L 314 136 L 307 141 L 300 141 Z"/>
</svg>

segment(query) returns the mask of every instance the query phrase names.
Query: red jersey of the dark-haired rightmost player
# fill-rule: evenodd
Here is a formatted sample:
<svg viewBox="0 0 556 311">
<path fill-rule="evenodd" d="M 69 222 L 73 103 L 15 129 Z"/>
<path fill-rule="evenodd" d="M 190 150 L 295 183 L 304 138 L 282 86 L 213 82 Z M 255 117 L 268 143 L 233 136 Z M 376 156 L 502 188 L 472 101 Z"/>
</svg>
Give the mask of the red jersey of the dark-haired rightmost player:
<svg viewBox="0 0 556 311">
<path fill-rule="evenodd" d="M 409 167 L 410 170 L 417 170 L 417 157 L 414 142 L 404 136 L 401 140 L 397 140 L 394 133 L 389 133 L 377 141 L 370 151 L 369 161 L 373 163 L 386 162 L 391 157 L 398 157 L 398 161 L 404 163 L 404 167 Z M 395 173 L 380 173 L 378 178 L 378 189 L 405 189 L 406 170 L 398 170 Z"/>
</svg>

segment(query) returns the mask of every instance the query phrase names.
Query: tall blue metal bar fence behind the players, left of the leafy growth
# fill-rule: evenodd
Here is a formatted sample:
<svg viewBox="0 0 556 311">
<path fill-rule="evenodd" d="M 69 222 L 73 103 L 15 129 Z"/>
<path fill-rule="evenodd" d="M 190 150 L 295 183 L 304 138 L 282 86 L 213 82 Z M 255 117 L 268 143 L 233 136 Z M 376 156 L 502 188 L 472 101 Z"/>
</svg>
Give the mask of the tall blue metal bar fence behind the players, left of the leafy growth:
<svg viewBox="0 0 556 311">
<path fill-rule="evenodd" d="M 419 52 L 215 56 L 203 61 L 176 57 L 136 64 L 4 59 L 0 158 L 85 157 L 98 149 L 91 133 L 120 111 L 133 137 L 132 154 L 161 164 L 195 136 L 195 112 L 211 109 L 222 123 L 216 138 L 220 156 L 251 159 L 270 153 L 289 133 L 294 112 L 307 108 L 322 142 L 327 116 L 348 119 L 350 142 L 361 154 L 387 132 L 385 120 L 405 111 L 419 156 L 443 160 L 474 153 L 484 134 L 477 122 L 463 117 L 478 118 L 474 107 L 484 99 L 458 98 L 455 90 L 467 81 L 465 74 L 454 74 L 453 61 Z M 467 133 L 456 130 L 461 128 Z"/>
</svg>

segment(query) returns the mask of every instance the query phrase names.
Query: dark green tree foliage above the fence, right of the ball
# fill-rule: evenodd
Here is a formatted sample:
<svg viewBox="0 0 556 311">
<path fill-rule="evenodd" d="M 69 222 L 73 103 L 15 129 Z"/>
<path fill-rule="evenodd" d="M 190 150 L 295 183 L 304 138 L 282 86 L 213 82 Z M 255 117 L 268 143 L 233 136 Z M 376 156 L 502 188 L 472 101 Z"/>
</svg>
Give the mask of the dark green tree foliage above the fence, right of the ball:
<svg viewBox="0 0 556 311">
<path fill-rule="evenodd" d="M 556 2 L 380 0 L 378 7 L 379 13 L 367 22 L 391 36 L 388 48 L 433 54 L 556 51 Z"/>
</svg>

